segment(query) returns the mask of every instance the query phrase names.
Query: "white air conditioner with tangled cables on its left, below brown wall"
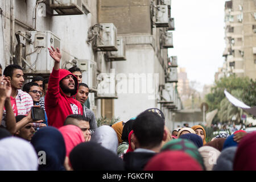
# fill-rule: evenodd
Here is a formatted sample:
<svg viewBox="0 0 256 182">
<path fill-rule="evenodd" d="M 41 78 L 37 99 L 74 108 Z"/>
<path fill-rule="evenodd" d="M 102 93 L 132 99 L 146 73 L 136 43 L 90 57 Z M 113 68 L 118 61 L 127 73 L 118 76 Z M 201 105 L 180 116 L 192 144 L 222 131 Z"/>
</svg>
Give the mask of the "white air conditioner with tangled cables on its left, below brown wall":
<svg viewBox="0 0 256 182">
<path fill-rule="evenodd" d="M 100 51 L 117 51 L 117 28 L 113 23 L 101 23 L 96 46 Z"/>
</svg>

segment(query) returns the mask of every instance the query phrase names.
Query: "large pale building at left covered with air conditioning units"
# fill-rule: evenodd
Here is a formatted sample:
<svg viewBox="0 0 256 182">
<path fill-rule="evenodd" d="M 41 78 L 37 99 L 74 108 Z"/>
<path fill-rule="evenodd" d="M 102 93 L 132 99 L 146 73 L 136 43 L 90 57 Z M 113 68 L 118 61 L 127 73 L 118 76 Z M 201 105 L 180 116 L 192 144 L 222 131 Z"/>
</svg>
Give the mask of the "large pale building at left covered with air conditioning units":
<svg viewBox="0 0 256 182">
<path fill-rule="evenodd" d="M 26 80 L 48 77 L 59 47 L 61 68 L 77 66 L 89 86 L 97 118 L 128 121 L 151 107 L 162 109 L 169 129 L 181 109 L 175 87 L 171 0 L 0 1 L 0 63 L 19 64 Z"/>
</svg>

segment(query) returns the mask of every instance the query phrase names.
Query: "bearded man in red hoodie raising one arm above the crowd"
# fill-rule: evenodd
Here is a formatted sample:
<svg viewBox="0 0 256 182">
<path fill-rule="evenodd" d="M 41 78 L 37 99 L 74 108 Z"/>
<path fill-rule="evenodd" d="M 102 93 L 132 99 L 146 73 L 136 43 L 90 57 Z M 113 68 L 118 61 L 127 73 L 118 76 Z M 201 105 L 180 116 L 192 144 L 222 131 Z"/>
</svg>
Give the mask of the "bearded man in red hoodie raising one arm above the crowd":
<svg viewBox="0 0 256 182">
<path fill-rule="evenodd" d="M 49 49 L 49 55 L 55 60 L 55 63 L 49 77 L 45 107 L 48 125 L 59 128 L 63 126 L 68 115 L 82 115 L 82 106 L 73 98 L 78 90 L 76 76 L 66 69 L 60 69 L 61 53 L 59 48 Z"/>
</svg>

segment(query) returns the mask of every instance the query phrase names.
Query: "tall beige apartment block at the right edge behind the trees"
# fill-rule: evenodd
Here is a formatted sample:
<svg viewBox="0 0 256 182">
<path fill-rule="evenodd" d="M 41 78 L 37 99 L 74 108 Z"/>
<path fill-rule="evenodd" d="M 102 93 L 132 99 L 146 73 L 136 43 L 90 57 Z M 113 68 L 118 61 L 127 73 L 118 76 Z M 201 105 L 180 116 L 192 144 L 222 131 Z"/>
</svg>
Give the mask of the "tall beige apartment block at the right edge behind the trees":
<svg viewBox="0 0 256 182">
<path fill-rule="evenodd" d="M 256 1 L 225 2 L 224 67 L 221 73 L 256 78 Z M 220 70 L 219 70 L 220 72 Z M 220 74 L 221 75 L 221 74 Z"/>
</svg>

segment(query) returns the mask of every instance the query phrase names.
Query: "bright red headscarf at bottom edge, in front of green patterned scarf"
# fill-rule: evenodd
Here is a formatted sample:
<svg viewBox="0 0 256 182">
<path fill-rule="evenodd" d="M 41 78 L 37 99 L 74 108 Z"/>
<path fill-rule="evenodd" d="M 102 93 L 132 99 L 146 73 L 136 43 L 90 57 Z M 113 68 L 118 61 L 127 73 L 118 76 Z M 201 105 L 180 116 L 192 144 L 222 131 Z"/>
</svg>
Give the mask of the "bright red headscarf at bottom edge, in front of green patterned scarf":
<svg viewBox="0 0 256 182">
<path fill-rule="evenodd" d="M 202 171 L 200 164 L 183 151 L 163 151 L 152 157 L 144 171 Z"/>
</svg>

